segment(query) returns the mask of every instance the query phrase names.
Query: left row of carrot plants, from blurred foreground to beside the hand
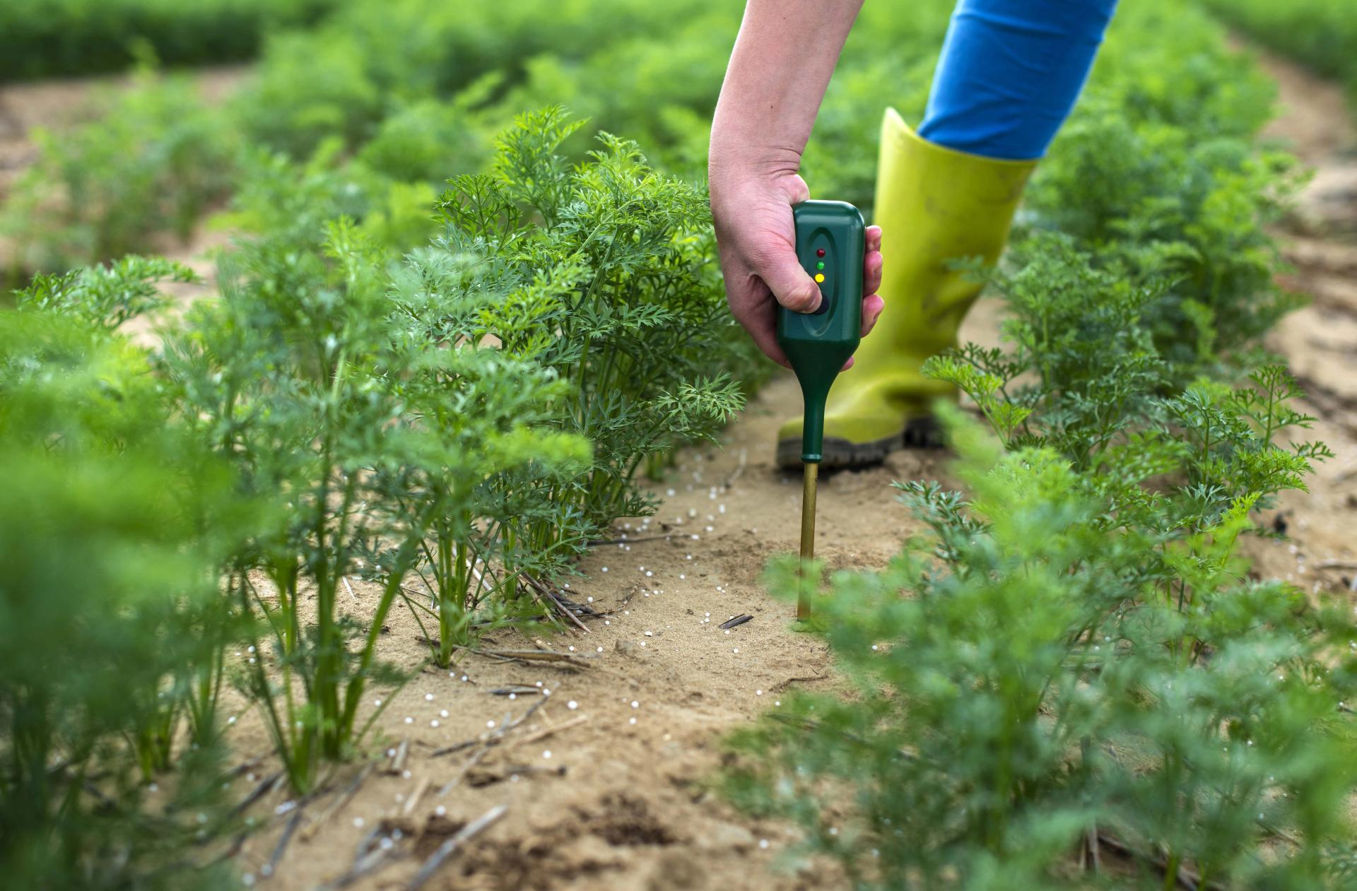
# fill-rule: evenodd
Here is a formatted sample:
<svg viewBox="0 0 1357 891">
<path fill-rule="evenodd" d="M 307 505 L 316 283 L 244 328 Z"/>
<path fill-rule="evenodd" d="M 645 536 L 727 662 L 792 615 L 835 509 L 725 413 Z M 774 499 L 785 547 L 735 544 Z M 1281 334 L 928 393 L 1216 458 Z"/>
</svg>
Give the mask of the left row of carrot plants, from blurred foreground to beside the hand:
<svg viewBox="0 0 1357 891">
<path fill-rule="evenodd" d="M 704 191 L 607 134 L 567 164 L 578 126 L 521 117 L 403 260 L 297 186 L 151 349 L 119 330 L 191 279 L 166 260 L 41 275 L 0 313 L 16 887 L 214 887 L 227 690 L 315 792 L 415 669 L 381 656 L 392 610 L 440 666 L 558 627 L 589 541 L 653 510 L 646 456 L 742 405 Z"/>
</svg>

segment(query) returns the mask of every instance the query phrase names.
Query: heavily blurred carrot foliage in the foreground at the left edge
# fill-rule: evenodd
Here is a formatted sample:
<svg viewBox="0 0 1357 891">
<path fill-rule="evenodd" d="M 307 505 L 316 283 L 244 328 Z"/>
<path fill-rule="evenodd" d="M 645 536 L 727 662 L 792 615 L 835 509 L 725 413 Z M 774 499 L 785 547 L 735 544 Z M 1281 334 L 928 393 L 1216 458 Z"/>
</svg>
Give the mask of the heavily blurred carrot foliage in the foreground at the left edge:
<svg viewBox="0 0 1357 891">
<path fill-rule="evenodd" d="M 0 313 L 0 464 L 5 882 L 221 887 L 187 846 L 227 820 L 216 694 L 247 620 L 217 568 L 250 506 L 144 351 L 31 302 Z"/>
</svg>

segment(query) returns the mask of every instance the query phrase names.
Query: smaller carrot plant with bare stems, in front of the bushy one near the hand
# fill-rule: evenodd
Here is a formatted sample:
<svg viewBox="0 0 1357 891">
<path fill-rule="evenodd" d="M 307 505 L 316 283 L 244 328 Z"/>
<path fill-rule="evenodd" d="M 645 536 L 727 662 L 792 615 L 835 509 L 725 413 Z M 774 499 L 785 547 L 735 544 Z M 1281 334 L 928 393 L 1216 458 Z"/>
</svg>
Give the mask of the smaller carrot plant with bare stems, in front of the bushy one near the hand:
<svg viewBox="0 0 1357 891">
<path fill-rule="evenodd" d="M 584 544 L 569 506 L 543 502 L 543 481 L 562 483 L 589 460 L 582 439 L 547 430 L 552 401 L 569 389 L 550 370 L 514 362 L 494 350 L 463 346 L 432 351 L 402 384 L 408 423 L 438 443 L 385 477 L 403 522 L 423 530 L 414 572 L 432 606 L 422 609 L 438 633 L 426 633 L 434 662 L 448 666 L 478 633 L 520 624 L 536 613 L 550 620 L 528 579 L 551 576 Z M 559 530 L 536 551 L 525 532 Z M 411 609 L 418 598 L 404 598 Z M 421 622 L 419 613 L 415 614 Z"/>
</svg>

